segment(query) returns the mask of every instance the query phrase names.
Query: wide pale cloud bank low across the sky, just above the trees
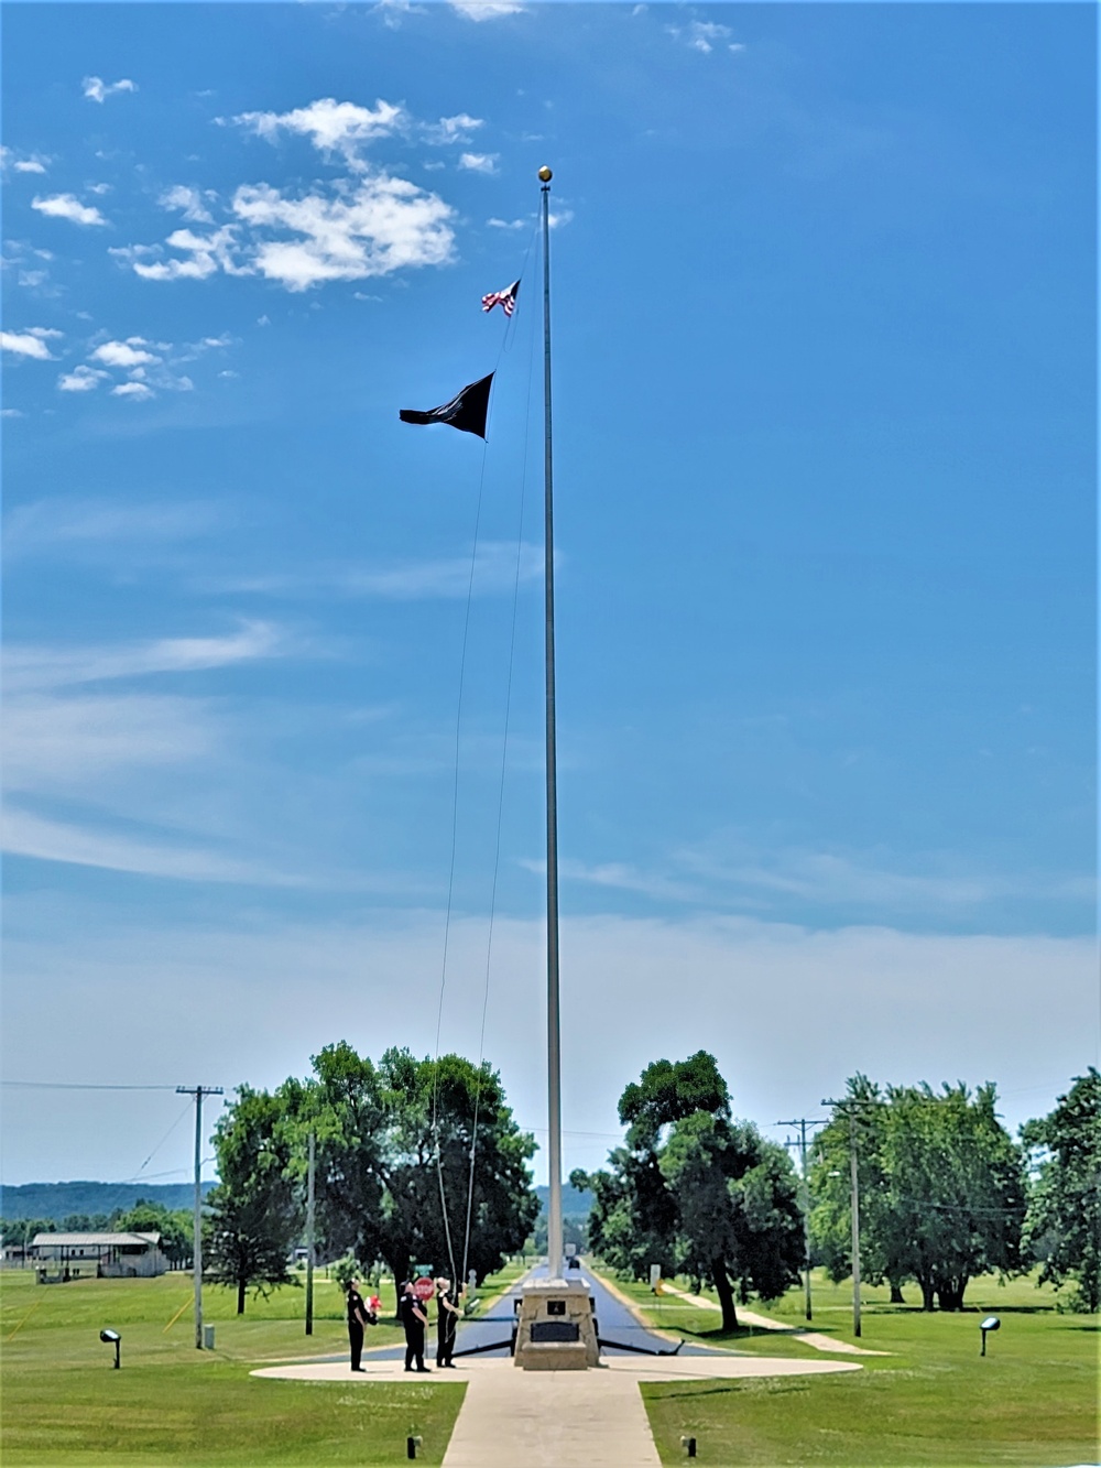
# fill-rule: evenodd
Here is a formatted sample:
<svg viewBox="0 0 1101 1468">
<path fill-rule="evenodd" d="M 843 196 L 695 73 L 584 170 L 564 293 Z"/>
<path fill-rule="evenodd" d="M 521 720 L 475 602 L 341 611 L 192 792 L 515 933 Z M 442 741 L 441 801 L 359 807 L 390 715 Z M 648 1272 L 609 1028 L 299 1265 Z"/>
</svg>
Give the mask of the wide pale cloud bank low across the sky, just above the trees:
<svg viewBox="0 0 1101 1468">
<path fill-rule="evenodd" d="M 37 835 L 62 840 L 54 832 Z M 60 897 L 34 909 L 16 907 L 18 901 L 13 894 L 19 932 L 9 916 L 4 1019 L 22 1075 L 182 1076 L 194 1075 L 200 1054 L 211 1080 L 270 1088 L 308 1072 L 308 1057 L 336 1035 L 335 1014 L 361 1016 L 342 1033 L 364 1054 L 377 1058 L 393 1036 L 414 1054 L 432 1053 L 439 912 L 380 912 L 355 923 L 273 915 L 217 926 L 135 919 L 94 928 L 73 923 L 70 904 Z M 459 1054 L 479 1053 L 486 932 L 480 916 L 452 923 L 443 1032 Z M 302 973 L 310 973 L 316 997 L 305 1006 Z M 545 973 L 542 923 L 498 919 L 486 1055 L 501 1069 L 517 1120 L 540 1136 L 546 1064 L 534 1036 Z M 47 984 L 51 1004 L 66 1016 L 63 1026 L 43 1028 Z M 163 1007 L 150 1016 L 151 992 L 186 997 L 170 1023 Z M 1042 1025 L 1036 1025 L 1038 995 Z M 994 1079 L 1003 1098 L 998 1110 L 1013 1127 L 1048 1111 L 1095 1054 L 1089 940 L 567 916 L 562 1001 L 567 1170 L 603 1164 L 622 1135 L 617 1101 L 624 1085 L 661 1055 L 677 1060 L 711 1051 L 730 1082 L 735 1114 L 769 1130 L 777 1117 L 818 1114 L 793 1107 L 838 1094 L 857 1070 L 900 1083 Z M 211 1013 L 219 1014 L 214 1026 Z M 94 1073 L 90 1035 L 97 1036 L 101 1067 Z M 148 1069 L 135 1072 L 135 1054 Z M 170 1122 L 166 1117 L 159 1130 Z M 40 1130 L 31 1148 L 19 1144 L 9 1120 L 12 1142 L 26 1149 L 22 1176 L 76 1176 L 88 1147 L 104 1145 L 116 1151 L 98 1154 L 94 1174 L 123 1174 L 134 1166 L 132 1132 L 101 1123 L 98 1111 L 69 1108 L 63 1124 Z M 6 1164 L 15 1170 L 10 1151 Z M 186 1164 L 185 1144 L 181 1163 Z M 543 1154 L 537 1166 L 546 1170 Z"/>
</svg>

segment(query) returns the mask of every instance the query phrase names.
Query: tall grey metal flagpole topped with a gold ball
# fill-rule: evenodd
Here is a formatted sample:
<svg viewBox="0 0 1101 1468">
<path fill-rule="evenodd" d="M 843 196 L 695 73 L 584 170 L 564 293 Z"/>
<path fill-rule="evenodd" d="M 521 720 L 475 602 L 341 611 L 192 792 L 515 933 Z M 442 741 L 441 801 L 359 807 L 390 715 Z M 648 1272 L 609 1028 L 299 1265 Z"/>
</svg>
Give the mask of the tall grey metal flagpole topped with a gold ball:
<svg viewBox="0 0 1101 1468">
<path fill-rule="evenodd" d="M 543 421 L 545 421 L 545 584 L 546 584 L 546 1070 L 548 1167 L 546 1271 L 562 1276 L 562 1054 L 558 1001 L 558 775 L 555 768 L 555 537 L 550 473 L 550 169 L 543 184 Z"/>
</svg>

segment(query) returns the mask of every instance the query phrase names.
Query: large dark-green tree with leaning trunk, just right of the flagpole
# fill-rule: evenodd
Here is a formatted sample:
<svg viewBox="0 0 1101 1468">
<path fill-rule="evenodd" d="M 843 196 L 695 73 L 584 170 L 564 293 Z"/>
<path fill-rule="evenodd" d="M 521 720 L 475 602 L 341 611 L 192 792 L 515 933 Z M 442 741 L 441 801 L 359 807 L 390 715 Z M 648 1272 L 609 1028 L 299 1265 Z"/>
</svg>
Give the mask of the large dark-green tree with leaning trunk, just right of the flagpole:
<svg viewBox="0 0 1101 1468">
<path fill-rule="evenodd" d="M 724 1329 L 735 1298 L 775 1299 L 799 1277 L 802 1229 L 796 1177 L 782 1148 L 731 1120 L 713 1057 L 659 1060 L 619 1100 L 625 1147 L 608 1171 L 575 1173 L 595 1205 L 593 1248 L 644 1277 L 650 1264 L 709 1279 Z"/>
</svg>

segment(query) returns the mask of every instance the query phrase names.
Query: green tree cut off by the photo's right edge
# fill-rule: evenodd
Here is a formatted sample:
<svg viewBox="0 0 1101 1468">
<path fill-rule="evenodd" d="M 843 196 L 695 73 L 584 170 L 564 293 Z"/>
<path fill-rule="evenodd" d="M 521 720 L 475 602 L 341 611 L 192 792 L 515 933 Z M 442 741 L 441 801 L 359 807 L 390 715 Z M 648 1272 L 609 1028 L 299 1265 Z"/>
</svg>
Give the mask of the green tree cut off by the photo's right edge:
<svg viewBox="0 0 1101 1468">
<path fill-rule="evenodd" d="M 1089 1066 L 1054 1111 L 1020 1130 L 1038 1177 L 1025 1243 L 1044 1260 L 1041 1280 L 1073 1283 L 1072 1309 L 1101 1309 L 1101 1073 Z"/>
</svg>

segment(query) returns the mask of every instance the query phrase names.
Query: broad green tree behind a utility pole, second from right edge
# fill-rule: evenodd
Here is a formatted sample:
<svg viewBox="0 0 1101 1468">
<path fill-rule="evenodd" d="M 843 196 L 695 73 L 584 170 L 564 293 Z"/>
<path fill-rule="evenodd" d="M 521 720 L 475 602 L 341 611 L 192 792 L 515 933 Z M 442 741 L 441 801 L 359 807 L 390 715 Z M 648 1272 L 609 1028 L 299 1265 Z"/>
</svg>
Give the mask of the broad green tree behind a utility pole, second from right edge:
<svg viewBox="0 0 1101 1468">
<path fill-rule="evenodd" d="M 849 1082 L 818 1139 L 812 1229 L 831 1274 L 851 1270 L 850 1136 L 856 1127 L 860 1264 L 895 1289 L 916 1280 L 925 1309 L 962 1309 L 970 1279 L 1022 1267 L 1026 1177 L 998 1122 L 992 1085 L 888 1086 Z"/>
</svg>

